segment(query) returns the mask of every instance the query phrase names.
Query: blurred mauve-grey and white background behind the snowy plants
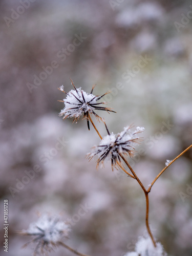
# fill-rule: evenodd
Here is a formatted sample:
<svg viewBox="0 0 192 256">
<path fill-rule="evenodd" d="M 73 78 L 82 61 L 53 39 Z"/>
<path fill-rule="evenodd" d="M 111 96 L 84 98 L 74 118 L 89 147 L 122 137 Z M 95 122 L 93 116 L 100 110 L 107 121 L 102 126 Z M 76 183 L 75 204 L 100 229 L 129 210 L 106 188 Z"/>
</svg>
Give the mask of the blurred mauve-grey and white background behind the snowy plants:
<svg viewBox="0 0 192 256">
<path fill-rule="evenodd" d="M 146 234 L 143 192 L 110 163 L 97 171 L 97 158 L 85 158 L 100 139 L 81 118 L 58 117 L 65 94 L 57 88 L 68 92 L 72 78 L 87 92 L 97 84 L 95 95 L 111 90 L 104 100 L 117 113 L 98 113 L 110 132 L 145 127 L 129 160 L 147 187 L 192 143 L 191 1 L 2 0 L 0 12 L 1 226 L 9 200 L 2 255 L 32 255 L 33 245 L 22 249 L 30 238 L 16 231 L 49 212 L 69 221 L 74 249 L 123 256 Z M 168 255 L 192 252 L 191 159 L 190 150 L 150 193 L 151 228 Z M 63 253 L 73 255 L 50 255 Z"/>
</svg>

